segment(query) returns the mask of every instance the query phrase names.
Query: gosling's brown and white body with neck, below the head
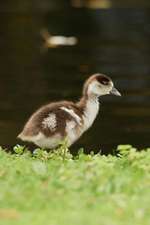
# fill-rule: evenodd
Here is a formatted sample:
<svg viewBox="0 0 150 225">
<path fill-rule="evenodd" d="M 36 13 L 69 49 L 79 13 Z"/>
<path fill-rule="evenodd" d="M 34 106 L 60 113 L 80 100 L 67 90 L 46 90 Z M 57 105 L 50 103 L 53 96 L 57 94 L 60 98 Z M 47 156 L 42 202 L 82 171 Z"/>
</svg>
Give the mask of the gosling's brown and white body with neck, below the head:
<svg viewBox="0 0 150 225">
<path fill-rule="evenodd" d="M 78 104 L 67 101 L 50 103 L 31 116 L 19 138 L 50 149 L 67 138 L 70 146 L 92 125 L 98 110 L 97 98 Z"/>
</svg>

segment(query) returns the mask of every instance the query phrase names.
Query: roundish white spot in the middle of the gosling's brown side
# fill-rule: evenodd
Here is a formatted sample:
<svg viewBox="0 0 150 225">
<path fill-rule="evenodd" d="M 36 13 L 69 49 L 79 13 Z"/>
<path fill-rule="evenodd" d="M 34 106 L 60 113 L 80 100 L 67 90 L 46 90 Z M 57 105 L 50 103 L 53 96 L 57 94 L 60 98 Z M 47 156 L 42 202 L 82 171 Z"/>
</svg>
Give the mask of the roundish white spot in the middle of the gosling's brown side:
<svg viewBox="0 0 150 225">
<path fill-rule="evenodd" d="M 42 121 L 43 128 L 49 128 L 53 132 L 56 130 L 56 125 L 57 121 L 54 113 L 49 113 L 48 117 Z"/>
</svg>

